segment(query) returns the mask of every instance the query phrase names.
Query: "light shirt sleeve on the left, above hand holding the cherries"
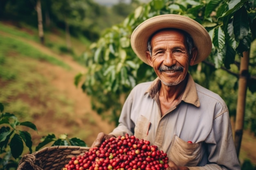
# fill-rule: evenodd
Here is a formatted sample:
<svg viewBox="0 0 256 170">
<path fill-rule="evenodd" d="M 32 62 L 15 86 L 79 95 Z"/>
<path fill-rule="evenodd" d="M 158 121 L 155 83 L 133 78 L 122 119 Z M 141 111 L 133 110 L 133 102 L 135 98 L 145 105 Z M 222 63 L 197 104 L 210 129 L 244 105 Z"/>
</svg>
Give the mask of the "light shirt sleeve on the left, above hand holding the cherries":
<svg viewBox="0 0 256 170">
<path fill-rule="evenodd" d="M 119 117 L 119 124 L 112 132 L 110 132 L 110 135 L 115 135 L 117 137 L 119 135 L 124 136 L 126 133 L 129 135 L 134 134 L 135 123 L 131 119 L 132 102 L 133 93 L 131 91 L 124 102 L 124 106 Z"/>
</svg>

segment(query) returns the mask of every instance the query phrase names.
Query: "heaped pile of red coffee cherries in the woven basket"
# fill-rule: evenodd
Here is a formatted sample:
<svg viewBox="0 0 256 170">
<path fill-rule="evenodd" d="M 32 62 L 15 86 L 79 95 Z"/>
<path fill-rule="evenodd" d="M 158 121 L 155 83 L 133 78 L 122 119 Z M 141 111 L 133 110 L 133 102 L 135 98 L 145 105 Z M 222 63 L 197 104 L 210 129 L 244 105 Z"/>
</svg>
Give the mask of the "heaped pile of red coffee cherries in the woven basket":
<svg viewBox="0 0 256 170">
<path fill-rule="evenodd" d="M 72 157 L 62 170 L 165 170 L 167 162 L 166 153 L 150 146 L 150 141 L 126 134 Z"/>
</svg>

